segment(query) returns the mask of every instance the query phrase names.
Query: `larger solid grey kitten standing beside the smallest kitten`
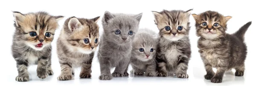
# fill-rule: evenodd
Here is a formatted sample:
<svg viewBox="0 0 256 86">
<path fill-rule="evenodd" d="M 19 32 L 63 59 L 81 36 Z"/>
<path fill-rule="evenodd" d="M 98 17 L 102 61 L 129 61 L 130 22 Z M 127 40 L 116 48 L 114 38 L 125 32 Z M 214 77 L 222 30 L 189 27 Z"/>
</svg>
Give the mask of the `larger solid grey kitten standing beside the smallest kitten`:
<svg viewBox="0 0 256 86">
<path fill-rule="evenodd" d="M 139 28 L 142 13 L 137 15 L 111 14 L 106 11 L 102 19 L 104 33 L 99 44 L 100 80 L 128 76 L 131 43 Z M 111 75 L 110 69 L 116 67 Z"/>
</svg>

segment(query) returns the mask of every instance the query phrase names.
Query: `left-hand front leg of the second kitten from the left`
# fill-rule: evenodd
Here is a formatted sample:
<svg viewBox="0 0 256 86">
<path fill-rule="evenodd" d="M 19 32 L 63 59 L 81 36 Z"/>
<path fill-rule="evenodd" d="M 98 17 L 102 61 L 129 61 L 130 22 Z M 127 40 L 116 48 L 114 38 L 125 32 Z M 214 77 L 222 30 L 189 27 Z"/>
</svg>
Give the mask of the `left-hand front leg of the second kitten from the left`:
<svg viewBox="0 0 256 86">
<path fill-rule="evenodd" d="M 72 79 L 72 64 L 71 63 L 61 63 L 61 75 L 58 76 L 58 80 L 71 80 Z"/>
</svg>

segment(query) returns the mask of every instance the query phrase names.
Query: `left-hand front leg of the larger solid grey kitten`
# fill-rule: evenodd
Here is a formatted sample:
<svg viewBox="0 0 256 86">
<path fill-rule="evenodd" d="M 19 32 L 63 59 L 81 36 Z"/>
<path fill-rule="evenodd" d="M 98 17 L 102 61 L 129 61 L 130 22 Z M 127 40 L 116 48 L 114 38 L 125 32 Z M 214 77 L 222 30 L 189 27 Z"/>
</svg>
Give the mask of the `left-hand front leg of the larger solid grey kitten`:
<svg viewBox="0 0 256 86">
<path fill-rule="evenodd" d="M 112 75 L 110 72 L 110 61 L 106 57 L 99 58 L 99 66 L 101 75 L 99 76 L 99 80 L 111 80 Z"/>
</svg>

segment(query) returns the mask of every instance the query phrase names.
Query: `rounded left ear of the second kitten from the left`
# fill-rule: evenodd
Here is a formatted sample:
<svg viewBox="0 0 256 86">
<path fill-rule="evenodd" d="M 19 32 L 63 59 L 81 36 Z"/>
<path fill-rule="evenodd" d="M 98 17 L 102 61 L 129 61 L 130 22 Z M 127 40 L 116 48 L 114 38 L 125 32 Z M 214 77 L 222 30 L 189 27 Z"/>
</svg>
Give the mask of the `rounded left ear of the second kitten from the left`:
<svg viewBox="0 0 256 86">
<path fill-rule="evenodd" d="M 81 23 L 76 17 L 73 17 L 68 22 L 68 28 L 73 32 L 75 29 L 79 29 L 81 26 Z"/>
</svg>

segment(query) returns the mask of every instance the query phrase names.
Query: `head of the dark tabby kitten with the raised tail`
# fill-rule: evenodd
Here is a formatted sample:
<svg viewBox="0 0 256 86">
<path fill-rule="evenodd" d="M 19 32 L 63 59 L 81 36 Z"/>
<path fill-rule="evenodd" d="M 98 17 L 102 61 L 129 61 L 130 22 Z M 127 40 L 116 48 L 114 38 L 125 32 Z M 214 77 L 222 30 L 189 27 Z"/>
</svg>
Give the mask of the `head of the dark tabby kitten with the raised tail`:
<svg viewBox="0 0 256 86">
<path fill-rule="evenodd" d="M 192 14 L 195 19 L 196 34 L 206 39 L 222 37 L 227 30 L 227 21 L 230 16 L 224 17 L 216 11 L 206 11 L 201 14 Z"/>
</svg>

